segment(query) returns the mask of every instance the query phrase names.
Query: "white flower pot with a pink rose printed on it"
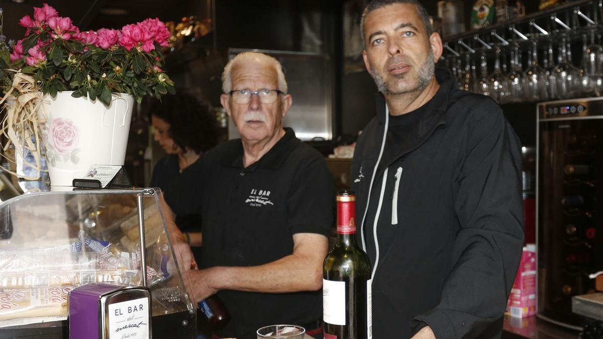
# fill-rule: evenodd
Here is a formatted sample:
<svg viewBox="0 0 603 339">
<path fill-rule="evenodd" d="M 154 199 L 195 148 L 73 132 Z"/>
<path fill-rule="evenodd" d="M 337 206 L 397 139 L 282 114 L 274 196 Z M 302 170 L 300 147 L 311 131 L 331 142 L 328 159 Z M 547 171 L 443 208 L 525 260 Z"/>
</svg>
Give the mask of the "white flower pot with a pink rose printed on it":
<svg viewBox="0 0 603 339">
<path fill-rule="evenodd" d="M 123 165 L 134 98 L 113 94 L 111 105 L 58 92 L 43 100 L 39 113 L 46 162 L 52 186 L 72 186 L 94 164 Z"/>
</svg>

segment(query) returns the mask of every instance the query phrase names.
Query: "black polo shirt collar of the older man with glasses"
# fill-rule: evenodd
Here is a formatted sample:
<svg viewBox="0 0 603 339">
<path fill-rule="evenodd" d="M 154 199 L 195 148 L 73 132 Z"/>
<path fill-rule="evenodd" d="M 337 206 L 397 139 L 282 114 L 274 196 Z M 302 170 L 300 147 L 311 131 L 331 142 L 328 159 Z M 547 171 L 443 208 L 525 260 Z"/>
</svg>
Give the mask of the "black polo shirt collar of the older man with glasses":
<svg viewBox="0 0 603 339">
<path fill-rule="evenodd" d="M 300 139 L 295 138 L 295 132 L 292 128 L 285 127 L 284 129 L 285 135 L 264 156 L 247 166 L 247 168 L 243 168 L 243 143 L 241 139 L 237 139 L 238 142 L 233 142 L 230 150 L 222 157 L 221 163 L 224 166 L 241 168 L 245 172 L 253 172 L 257 168 L 279 169 L 289 153 L 301 142 Z"/>
</svg>

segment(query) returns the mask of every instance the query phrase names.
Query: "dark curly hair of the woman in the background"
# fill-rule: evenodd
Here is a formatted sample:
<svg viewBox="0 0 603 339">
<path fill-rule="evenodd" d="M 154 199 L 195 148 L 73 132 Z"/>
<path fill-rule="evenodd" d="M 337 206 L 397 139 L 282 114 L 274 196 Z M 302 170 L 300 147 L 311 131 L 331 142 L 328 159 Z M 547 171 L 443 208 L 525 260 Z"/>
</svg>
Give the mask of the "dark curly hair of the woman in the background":
<svg viewBox="0 0 603 339">
<path fill-rule="evenodd" d="M 203 153 L 218 141 L 215 116 L 190 94 L 164 95 L 161 101 L 151 101 L 149 116 L 156 116 L 169 124 L 168 136 L 183 151 Z"/>
</svg>

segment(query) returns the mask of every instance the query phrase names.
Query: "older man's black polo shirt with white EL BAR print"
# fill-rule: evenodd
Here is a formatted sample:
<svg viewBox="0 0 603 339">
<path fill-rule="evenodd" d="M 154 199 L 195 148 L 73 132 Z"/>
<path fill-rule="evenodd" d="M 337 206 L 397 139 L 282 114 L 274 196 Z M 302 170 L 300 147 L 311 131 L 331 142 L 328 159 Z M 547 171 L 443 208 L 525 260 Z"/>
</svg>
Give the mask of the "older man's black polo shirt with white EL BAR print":
<svg viewBox="0 0 603 339">
<path fill-rule="evenodd" d="M 335 194 L 332 176 L 318 151 L 295 138 L 291 128 L 285 131 L 270 151 L 247 168 L 242 163 L 241 139 L 236 139 L 207 152 L 195 177 L 180 180 L 198 192 L 198 198 L 180 208 L 201 212 L 201 268 L 262 265 L 291 255 L 295 233 L 329 236 Z M 169 190 L 165 197 L 169 204 Z M 174 212 L 178 214 L 177 207 Z M 220 291 L 218 296 L 231 315 L 218 333 L 221 337 L 255 338 L 262 326 L 302 325 L 322 317 L 320 291 Z"/>
</svg>

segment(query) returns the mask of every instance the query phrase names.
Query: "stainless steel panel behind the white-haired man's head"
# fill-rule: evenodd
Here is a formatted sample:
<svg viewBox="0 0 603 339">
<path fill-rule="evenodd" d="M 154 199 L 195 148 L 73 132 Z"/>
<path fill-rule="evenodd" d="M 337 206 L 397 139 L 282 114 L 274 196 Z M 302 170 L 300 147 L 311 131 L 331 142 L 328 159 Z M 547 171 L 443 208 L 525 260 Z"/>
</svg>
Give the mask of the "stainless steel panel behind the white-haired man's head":
<svg viewBox="0 0 603 339">
<path fill-rule="evenodd" d="M 333 138 L 332 79 L 329 56 L 311 52 L 268 51 L 260 49 L 229 49 L 229 60 L 241 52 L 262 52 L 275 57 L 283 65 L 288 92 L 293 104 L 283 119 L 297 138 Z M 232 119 L 229 119 L 229 139 L 239 138 Z"/>
</svg>

